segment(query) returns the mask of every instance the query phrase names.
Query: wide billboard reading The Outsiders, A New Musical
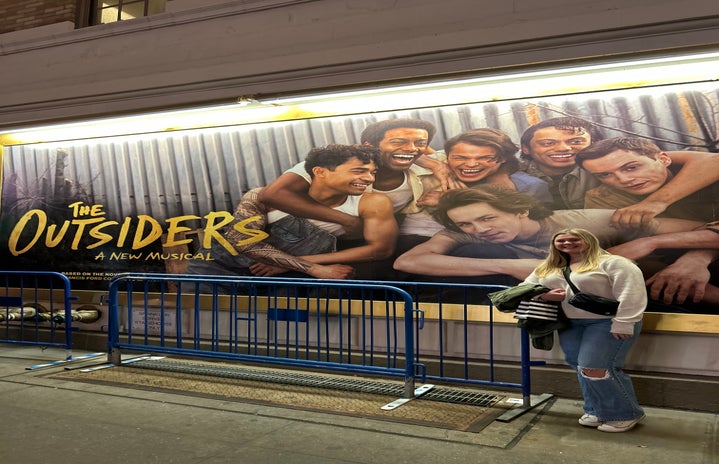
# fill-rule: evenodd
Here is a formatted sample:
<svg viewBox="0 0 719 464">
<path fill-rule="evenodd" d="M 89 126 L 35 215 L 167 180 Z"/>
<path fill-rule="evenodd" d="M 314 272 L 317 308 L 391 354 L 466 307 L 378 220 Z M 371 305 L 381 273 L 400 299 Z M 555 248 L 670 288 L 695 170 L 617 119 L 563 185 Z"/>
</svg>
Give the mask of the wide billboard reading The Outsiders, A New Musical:
<svg viewBox="0 0 719 464">
<path fill-rule="evenodd" d="M 719 229 L 712 224 L 719 220 L 716 83 L 347 113 L 5 146 L 3 266 L 62 272 L 73 288 L 87 290 L 105 289 L 122 272 L 311 276 L 301 267 L 285 274 L 275 257 L 255 265 L 258 252 L 269 257 L 284 246 L 272 241 L 275 221 L 302 219 L 290 234 L 309 244 L 280 250 L 283 256 L 327 253 L 328 244 L 332 251 L 362 247 L 369 236 L 377 241 L 386 224 L 371 222 L 378 228 L 368 229 L 358 220 L 350 233 L 347 224 L 328 228 L 300 213 L 277 219 L 281 209 L 263 203 L 257 189 L 293 168 L 293 179 L 308 177 L 296 166 L 315 148 L 364 142 L 380 153 L 373 192 L 388 192 L 392 202 L 398 236 L 383 236 L 393 237 L 395 251 L 329 263 L 335 266 L 326 269 L 329 276 L 511 285 L 528 273 L 526 263 L 546 255 L 547 234 L 582 227 L 642 265 L 654 297 L 650 311 L 719 312 Z M 390 138 L 367 134 L 397 119 L 424 121 L 430 129 L 390 125 Z M 618 145 L 578 159 L 606 140 Z M 398 193 L 391 182 L 378 188 L 397 172 L 409 189 Z M 359 198 L 366 178 L 347 182 L 353 185 L 347 195 Z M 468 234 L 446 214 L 453 206 L 441 203 L 445 190 L 490 190 L 500 204 L 522 211 L 495 200 L 492 212 L 500 217 L 487 219 L 491 231 Z M 247 216 L 237 221 L 243 199 L 240 213 Z M 271 201 L 291 209 L 294 200 L 275 193 Z M 355 206 L 345 214 L 361 216 Z M 517 217 L 528 222 L 515 224 Z M 253 225 L 258 218 L 261 227 Z M 237 240 L 228 238 L 228 226 Z M 415 265 L 413 250 L 440 233 L 446 260 Z M 448 245 L 447 237 L 455 242 Z"/>
</svg>

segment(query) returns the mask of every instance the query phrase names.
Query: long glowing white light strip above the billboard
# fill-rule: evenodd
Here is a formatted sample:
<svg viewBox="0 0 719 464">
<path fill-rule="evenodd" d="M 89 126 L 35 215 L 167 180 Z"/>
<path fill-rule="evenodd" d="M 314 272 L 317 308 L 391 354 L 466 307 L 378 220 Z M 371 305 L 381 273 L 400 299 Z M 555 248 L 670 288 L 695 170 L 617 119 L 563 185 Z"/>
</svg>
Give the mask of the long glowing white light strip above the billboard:
<svg viewBox="0 0 719 464">
<path fill-rule="evenodd" d="M 0 145 L 116 137 L 718 79 L 719 52 L 701 53 L 260 101 L 254 97 L 240 97 L 239 104 L 11 130 L 0 134 Z"/>
</svg>

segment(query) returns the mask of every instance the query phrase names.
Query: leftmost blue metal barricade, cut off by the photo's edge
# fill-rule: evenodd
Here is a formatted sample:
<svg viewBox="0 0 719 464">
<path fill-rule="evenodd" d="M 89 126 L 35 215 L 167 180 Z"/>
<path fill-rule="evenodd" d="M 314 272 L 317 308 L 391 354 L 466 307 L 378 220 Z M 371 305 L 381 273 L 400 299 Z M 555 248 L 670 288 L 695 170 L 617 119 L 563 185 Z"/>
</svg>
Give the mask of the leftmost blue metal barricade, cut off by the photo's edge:
<svg viewBox="0 0 719 464">
<path fill-rule="evenodd" d="M 70 280 L 57 272 L 0 271 L 0 284 L 0 342 L 62 347 L 71 359 Z"/>
</svg>

